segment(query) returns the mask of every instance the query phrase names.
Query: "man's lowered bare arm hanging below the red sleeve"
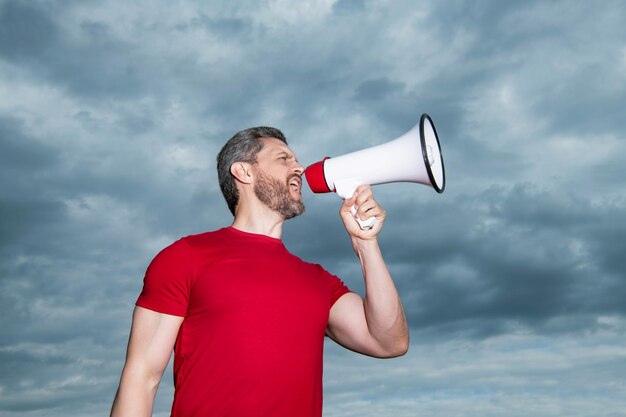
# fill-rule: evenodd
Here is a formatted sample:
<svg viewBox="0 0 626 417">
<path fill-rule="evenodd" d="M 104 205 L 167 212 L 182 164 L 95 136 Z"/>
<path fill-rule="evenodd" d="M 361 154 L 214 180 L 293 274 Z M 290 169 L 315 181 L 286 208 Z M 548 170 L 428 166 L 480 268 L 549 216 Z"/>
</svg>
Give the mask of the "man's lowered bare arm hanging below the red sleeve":
<svg viewBox="0 0 626 417">
<path fill-rule="evenodd" d="M 151 416 L 183 317 L 135 307 L 126 363 L 111 417 Z"/>
</svg>

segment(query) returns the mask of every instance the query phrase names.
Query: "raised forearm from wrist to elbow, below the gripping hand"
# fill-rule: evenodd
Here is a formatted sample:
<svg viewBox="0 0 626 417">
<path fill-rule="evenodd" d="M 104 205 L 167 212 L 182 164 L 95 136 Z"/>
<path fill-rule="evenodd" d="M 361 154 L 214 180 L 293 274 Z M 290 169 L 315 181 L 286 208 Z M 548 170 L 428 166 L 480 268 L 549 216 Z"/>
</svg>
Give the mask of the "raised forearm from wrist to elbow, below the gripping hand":
<svg viewBox="0 0 626 417">
<path fill-rule="evenodd" d="M 352 239 L 365 279 L 365 317 L 371 336 L 393 356 L 408 349 L 409 334 L 402 302 L 376 239 Z"/>
</svg>

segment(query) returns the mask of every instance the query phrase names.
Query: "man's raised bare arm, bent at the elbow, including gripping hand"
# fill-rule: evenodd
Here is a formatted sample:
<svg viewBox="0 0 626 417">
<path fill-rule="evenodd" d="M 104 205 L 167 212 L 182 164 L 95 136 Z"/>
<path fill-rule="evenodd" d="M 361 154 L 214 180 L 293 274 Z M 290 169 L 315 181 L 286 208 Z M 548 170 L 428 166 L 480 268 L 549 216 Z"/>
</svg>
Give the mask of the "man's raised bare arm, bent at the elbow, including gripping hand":
<svg viewBox="0 0 626 417">
<path fill-rule="evenodd" d="M 377 218 L 371 230 L 361 230 L 350 212 L 352 205 L 361 219 Z M 361 186 L 344 202 L 340 214 L 361 262 L 365 300 L 354 293 L 337 300 L 330 310 L 327 334 L 337 343 L 365 355 L 380 358 L 404 355 L 409 346 L 408 325 L 377 241 L 386 213 L 374 200 L 370 187 Z"/>
</svg>

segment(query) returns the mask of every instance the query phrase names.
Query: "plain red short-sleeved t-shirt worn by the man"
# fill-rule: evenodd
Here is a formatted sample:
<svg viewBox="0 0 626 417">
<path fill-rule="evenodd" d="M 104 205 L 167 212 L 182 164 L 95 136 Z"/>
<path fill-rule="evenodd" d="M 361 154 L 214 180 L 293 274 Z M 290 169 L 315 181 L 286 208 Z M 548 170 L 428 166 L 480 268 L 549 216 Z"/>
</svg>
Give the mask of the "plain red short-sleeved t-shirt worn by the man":
<svg viewBox="0 0 626 417">
<path fill-rule="evenodd" d="M 232 227 L 165 248 L 137 305 L 185 317 L 172 416 L 321 416 L 328 313 L 347 292 L 280 239 Z"/>
</svg>

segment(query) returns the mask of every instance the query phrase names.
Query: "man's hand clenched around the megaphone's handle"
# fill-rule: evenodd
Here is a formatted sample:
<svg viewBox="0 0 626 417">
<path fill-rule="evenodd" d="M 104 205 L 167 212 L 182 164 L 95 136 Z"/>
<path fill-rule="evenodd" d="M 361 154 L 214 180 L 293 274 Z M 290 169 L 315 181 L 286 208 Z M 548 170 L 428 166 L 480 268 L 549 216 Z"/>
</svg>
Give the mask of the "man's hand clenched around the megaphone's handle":
<svg viewBox="0 0 626 417">
<path fill-rule="evenodd" d="M 376 217 L 376 222 L 371 229 L 361 229 L 359 223 L 352 215 L 352 206 L 356 208 L 356 215 L 361 220 L 367 220 L 370 217 Z M 341 216 L 341 220 L 343 221 L 346 231 L 351 238 L 373 240 L 376 239 L 378 234 L 380 233 L 387 213 L 376 202 L 376 200 L 374 200 L 372 188 L 369 185 L 360 185 L 356 189 L 352 197 L 344 200 L 343 205 L 339 210 L 339 215 Z"/>
</svg>

